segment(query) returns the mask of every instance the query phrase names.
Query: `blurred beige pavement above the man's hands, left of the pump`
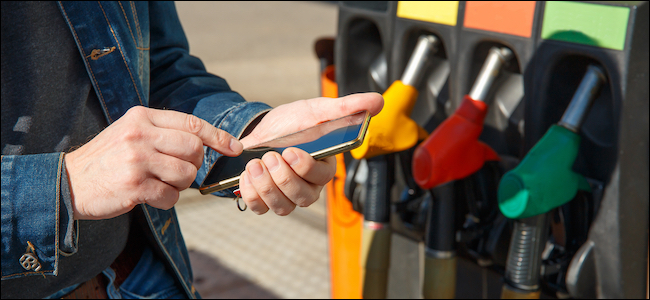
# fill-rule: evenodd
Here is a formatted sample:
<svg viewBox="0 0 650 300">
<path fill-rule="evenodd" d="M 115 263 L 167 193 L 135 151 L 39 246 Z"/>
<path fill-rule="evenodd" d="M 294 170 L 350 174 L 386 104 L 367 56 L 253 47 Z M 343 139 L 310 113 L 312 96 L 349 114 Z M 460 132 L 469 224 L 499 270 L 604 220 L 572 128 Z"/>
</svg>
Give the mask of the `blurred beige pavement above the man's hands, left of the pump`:
<svg viewBox="0 0 650 300">
<path fill-rule="evenodd" d="M 318 96 L 314 41 L 335 36 L 324 2 L 177 2 L 190 53 L 248 101 L 272 106 Z"/>
</svg>

